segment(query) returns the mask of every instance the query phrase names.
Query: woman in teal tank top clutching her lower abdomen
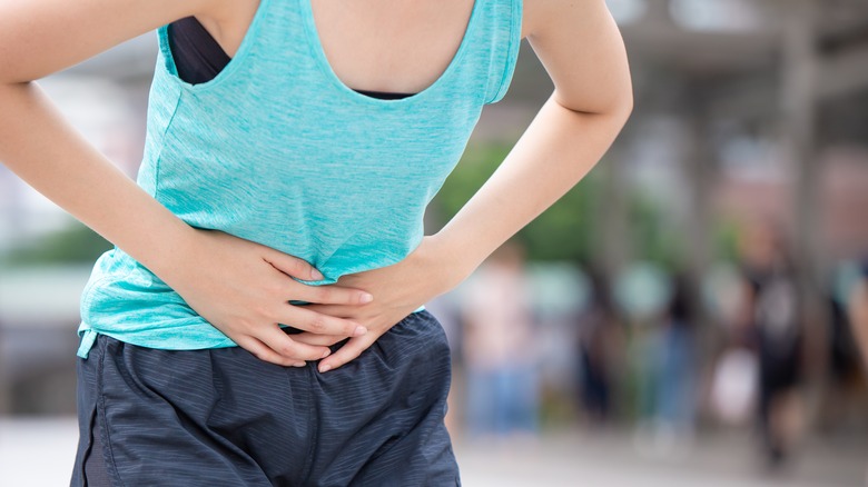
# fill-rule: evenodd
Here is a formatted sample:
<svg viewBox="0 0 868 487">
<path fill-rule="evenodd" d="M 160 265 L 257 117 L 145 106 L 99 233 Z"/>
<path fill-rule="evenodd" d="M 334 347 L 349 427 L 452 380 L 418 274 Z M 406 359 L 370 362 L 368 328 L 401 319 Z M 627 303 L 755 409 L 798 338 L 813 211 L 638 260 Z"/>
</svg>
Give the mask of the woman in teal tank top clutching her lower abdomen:
<svg viewBox="0 0 868 487">
<path fill-rule="evenodd" d="M 167 28 L 189 17 L 231 58 L 198 85 Z M 32 81 L 152 29 L 134 183 Z M 423 237 L 523 38 L 554 92 Z M 572 188 L 625 122 L 603 0 L 32 0 L 0 7 L 0 160 L 116 246 L 82 295 L 73 485 L 460 484 L 448 349 L 422 305 Z"/>
</svg>

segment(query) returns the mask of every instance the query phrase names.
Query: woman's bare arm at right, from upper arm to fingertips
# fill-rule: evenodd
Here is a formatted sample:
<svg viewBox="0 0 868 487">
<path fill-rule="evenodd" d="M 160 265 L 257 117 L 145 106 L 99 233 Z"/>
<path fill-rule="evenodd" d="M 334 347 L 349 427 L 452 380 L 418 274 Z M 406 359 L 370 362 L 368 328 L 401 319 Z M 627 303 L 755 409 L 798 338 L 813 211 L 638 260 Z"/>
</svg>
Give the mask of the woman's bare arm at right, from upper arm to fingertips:
<svg viewBox="0 0 868 487">
<path fill-rule="evenodd" d="M 371 291 L 374 302 L 314 307 L 353 317 L 372 330 L 323 360 L 320 370 L 352 360 L 406 314 L 457 286 L 575 186 L 625 123 L 633 100 L 630 71 L 604 0 L 525 0 L 522 30 L 554 92 L 503 163 L 441 231 L 395 266 L 338 281 Z"/>
</svg>

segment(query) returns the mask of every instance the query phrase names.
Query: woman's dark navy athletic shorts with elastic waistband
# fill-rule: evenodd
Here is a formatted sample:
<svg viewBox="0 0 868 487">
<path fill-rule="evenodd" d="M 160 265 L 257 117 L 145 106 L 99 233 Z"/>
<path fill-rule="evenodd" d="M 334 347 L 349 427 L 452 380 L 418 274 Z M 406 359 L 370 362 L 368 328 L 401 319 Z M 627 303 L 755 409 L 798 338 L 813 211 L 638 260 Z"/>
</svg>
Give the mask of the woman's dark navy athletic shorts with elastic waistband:
<svg viewBox="0 0 868 487">
<path fill-rule="evenodd" d="M 78 360 L 71 485 L 461 485 L 444 425 L 450 379 L 428 311 L 326 374 L 239 347 L 160 350 L 100 335 Z"/>
</svg>

